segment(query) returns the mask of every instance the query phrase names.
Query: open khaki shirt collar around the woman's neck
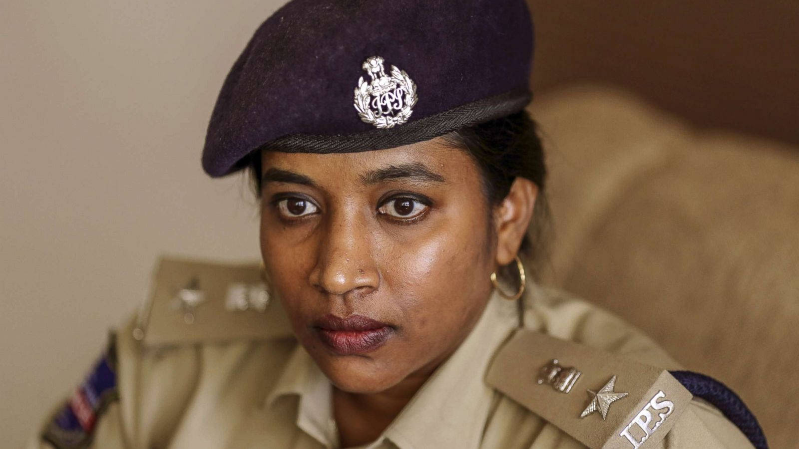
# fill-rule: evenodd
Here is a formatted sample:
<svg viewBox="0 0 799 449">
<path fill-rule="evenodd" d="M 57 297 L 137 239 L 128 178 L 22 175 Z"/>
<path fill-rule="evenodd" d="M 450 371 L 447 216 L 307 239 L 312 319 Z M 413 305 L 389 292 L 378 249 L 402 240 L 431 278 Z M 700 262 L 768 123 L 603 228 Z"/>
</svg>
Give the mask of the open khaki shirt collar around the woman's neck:
<svg viewBox="0 0 799 449">
<path fill-rule="evenodd" d="M 427 379 L 384 434 L 367 447 L 377 447 L 383 439 L 400 449 L 479 447 L 494 395 L 483 376 L 494 352 L 518 323 L 517 303 L 492 295 L 459 348 Z M 336 447 L 331 392 L 330 381 L 298 345 L 266 405 L 283 395 L 298 395 L 297 426 L 323 445 Z"/>
</svg>

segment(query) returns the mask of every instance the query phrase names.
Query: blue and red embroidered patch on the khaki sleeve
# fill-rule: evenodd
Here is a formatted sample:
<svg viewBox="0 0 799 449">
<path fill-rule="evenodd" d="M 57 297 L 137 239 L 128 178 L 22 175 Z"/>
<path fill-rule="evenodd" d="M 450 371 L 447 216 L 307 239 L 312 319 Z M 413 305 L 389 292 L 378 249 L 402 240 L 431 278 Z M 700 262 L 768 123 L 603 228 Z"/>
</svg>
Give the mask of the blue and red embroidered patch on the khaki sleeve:
<svg viewBox="0 0 799 449">
<path fill-rule="evenodd" d="M 117 355 L 113 333 L 109 346 L 89 375 L 53 416 L 42 439 L 58 449 L 78 449 L 91 442 L 97 419 L 117 395 Z"/>
</svg>

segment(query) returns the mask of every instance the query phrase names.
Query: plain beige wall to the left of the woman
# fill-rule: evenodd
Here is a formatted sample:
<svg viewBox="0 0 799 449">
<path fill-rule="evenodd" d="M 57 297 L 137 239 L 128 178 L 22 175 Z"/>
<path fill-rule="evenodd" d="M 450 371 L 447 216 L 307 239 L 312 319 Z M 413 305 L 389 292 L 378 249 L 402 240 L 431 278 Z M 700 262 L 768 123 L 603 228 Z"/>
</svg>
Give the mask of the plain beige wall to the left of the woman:
<svg viewBox="0 0 799 449">
<path fill-rule="evenodd" d="M 18 447 L 133 312 L 157 254 L 256 258 L 240 177 L 200 152 L 280 0 L 0 6 L 0 446 Z"/>
</svg>

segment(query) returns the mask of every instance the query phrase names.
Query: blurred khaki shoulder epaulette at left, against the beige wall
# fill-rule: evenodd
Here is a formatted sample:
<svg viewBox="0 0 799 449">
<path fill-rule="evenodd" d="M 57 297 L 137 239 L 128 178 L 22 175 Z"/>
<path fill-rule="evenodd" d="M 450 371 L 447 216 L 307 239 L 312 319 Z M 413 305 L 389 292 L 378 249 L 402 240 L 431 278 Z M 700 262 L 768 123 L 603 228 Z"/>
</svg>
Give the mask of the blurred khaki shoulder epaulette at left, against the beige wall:
<svg viewBox="0 0 799 449">
<path fill-rule="evenodd" d="M 260 264 L 161 257 L 133 338 L 145 345 L 292 336 Z"/>
</svg>

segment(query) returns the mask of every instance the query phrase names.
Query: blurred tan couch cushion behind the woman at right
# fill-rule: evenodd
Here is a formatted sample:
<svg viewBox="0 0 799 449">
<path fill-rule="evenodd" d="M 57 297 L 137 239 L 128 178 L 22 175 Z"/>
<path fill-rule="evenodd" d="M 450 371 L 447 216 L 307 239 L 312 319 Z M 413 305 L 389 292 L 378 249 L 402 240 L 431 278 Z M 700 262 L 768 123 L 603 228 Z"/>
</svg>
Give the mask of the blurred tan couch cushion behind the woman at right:
<svg viewBox="0 0 799 449">
<path fill-rule="evenodd" d="M 721 379 L 774 447 L 799 439 L 799 152 L 628 93 L 537 98 L 555 230 L 543 281 Z"/>
</svg>

